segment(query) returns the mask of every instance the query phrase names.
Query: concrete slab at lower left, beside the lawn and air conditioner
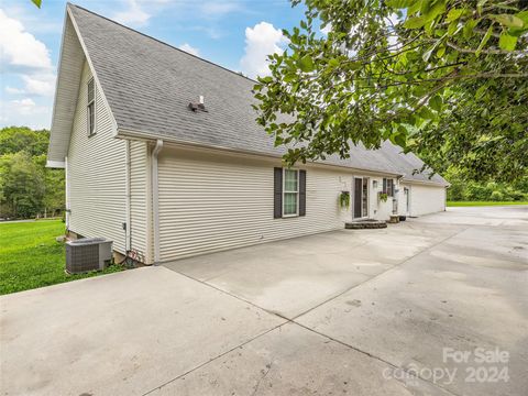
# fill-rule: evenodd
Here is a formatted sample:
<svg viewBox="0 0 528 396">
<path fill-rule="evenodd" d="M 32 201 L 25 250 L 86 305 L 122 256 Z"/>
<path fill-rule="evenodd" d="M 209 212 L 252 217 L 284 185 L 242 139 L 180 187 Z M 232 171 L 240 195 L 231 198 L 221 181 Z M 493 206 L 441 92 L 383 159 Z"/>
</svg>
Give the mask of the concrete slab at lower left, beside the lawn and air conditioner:
<svg viewBox="0 0 528 396">
<path fill-rule="evenodd" d="M 142 395 L 284 322 L 164 267 L 0 302 L 2 395 Z"/>
</svg>

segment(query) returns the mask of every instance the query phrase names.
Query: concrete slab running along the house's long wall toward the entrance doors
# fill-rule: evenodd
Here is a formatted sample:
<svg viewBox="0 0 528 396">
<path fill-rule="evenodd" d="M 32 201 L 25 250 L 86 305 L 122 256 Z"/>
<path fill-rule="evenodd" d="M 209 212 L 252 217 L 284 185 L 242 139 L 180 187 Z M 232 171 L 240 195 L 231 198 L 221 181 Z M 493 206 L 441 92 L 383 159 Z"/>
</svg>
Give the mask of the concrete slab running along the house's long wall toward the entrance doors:
<svg viewBox="0 0 528 396">
<path fill-rule="evenodd" d="M 292 319 L 458 231 L 460 228 L 414 228 L 410 223 L 383 230 L 342 230 L 165 266 Z"/>
</svg>

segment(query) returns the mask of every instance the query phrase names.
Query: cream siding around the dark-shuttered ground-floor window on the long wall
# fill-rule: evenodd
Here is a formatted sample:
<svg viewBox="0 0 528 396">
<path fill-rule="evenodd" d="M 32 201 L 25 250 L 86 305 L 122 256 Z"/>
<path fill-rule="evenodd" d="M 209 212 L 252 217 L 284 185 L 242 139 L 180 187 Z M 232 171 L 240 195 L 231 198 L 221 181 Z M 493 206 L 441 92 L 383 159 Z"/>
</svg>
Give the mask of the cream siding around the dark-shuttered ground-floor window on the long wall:
<svg viewBox="0 0 528 396">
<path fill-rule="evenodd" d="M 253 160 L 164 148 L 160 154 L 162 261 L 340 230 L 350 211 L 338 196 L 350 173 L 307 167 L 306 216 L 274 219 L 274 166 Z"/>
</svg>

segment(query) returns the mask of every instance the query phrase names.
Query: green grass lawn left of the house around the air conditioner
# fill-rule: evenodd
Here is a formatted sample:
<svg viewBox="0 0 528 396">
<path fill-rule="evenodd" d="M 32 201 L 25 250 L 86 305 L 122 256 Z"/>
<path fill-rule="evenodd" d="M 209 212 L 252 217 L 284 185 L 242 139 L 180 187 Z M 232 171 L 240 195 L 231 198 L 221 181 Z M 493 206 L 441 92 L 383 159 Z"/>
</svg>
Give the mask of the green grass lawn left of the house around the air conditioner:
<svg viewBox="0 0 528 396">
<path fill-rule="evenodd" d="M 9 294 L 121 271 L 111 265 L 103 272 L 68 275 L 64 272 L 64 234 L 61 220 L 0 223 L 0 294 Z"/>
</svg>

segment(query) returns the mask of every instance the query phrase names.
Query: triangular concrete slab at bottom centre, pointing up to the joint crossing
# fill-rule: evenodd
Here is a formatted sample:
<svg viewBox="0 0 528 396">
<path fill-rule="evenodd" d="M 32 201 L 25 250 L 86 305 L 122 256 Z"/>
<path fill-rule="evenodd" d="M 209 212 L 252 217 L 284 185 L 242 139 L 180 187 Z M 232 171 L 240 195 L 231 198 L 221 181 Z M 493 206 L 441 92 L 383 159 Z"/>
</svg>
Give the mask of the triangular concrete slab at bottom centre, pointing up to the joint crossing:
<svg viewBox="0 0 528 396">
<path fill-rule="evenodd" d="M 450 395 L 296 324 L 285 324 L 155 392 L 168 395 Z"/>
</svg>

